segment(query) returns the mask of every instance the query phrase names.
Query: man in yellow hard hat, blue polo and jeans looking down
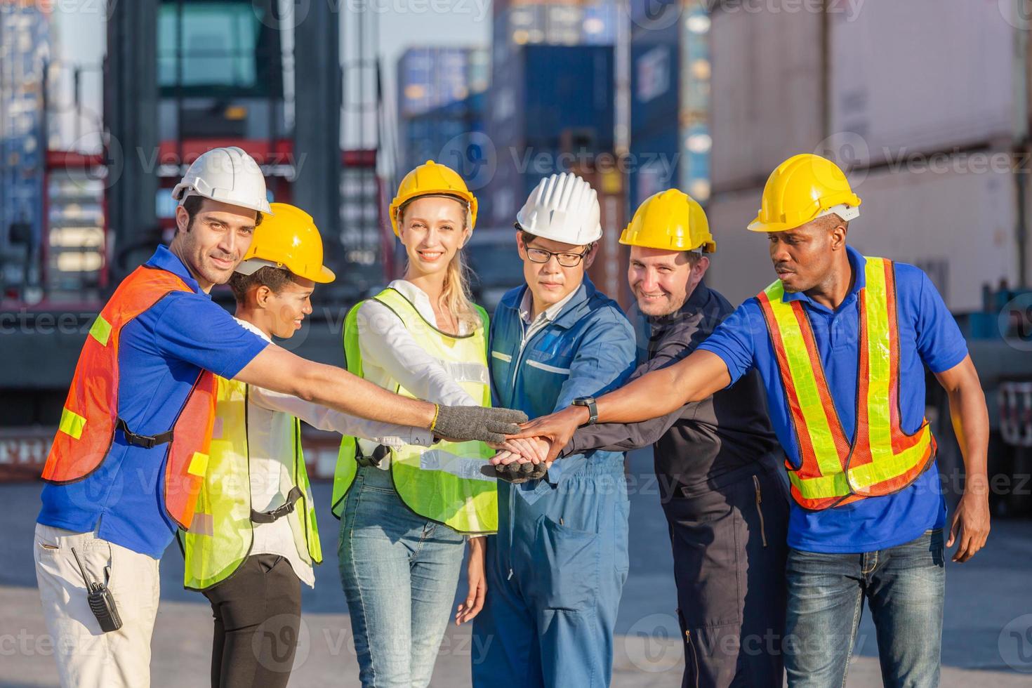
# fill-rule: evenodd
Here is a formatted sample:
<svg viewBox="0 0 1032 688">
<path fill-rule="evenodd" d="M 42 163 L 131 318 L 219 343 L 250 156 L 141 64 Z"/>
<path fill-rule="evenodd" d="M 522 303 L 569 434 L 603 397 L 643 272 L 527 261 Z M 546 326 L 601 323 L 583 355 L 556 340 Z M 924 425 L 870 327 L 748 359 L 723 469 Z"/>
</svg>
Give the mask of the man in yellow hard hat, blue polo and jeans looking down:
<svg viewBox="0 0 1032 688">
<path fill-rule="evenodd" d="M 833 162 L 781 163 L 748 229 L 766 234 L 778 280 L 735 310 L 690 356 L 598 400 L 601 422 L 635 422 L 698 401 L 757 369 L 788 460 L 784 661 L 794 688 L 839 686 L 866 599 L 882 681 L 938 683 L 954 561 L 989 535 L 989 417 L 957 323 L 918 268 L 846 243 L 860 198 Z M 946 510 L 925 418 L 925 366 L 949 398 L 964 493 Z M 571 407 L 525 434 L 565 446 L 594 419 Z M 552 452 L 557 452 L 555 446 Z"/>
</svg>

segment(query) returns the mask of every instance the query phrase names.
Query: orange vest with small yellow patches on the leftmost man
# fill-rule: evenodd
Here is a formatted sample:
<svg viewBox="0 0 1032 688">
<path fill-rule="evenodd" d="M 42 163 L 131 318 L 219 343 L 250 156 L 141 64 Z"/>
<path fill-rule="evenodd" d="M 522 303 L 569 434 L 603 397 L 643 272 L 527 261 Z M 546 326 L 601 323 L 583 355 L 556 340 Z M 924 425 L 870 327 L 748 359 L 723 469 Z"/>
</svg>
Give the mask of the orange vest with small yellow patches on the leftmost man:
<svg viewBox="0 0 1032 688">
<path fill-rule="evenodd" d="M 136 268 L 115 290 L 83 345 L 42 478 L 56 485 L 85 479 L 103 463 L 119 428 L 131 445 L 150 448 L 168 443 L 165 510 L 186 528 L 207 467 L 215 422 L 215 375 L 201 371 L 175 424 L 159 435 L 133 433 L 119 418 L 118 409 L 122 328 L 174 291 L 191 290 L 173 273 L 148 266 Z"/>
</svg>

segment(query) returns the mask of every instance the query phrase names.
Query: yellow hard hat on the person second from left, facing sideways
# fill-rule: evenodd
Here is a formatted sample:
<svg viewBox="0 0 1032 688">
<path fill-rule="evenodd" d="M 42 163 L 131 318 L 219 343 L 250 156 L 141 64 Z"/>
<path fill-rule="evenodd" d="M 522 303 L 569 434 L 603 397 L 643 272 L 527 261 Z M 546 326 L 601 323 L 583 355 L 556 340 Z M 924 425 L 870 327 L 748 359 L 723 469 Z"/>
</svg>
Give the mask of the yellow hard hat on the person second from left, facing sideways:
<svg viewBox="0 0 1032 688">
<path fill-rule="evenodd" d="M 255 227 L 251 248 L 236 271 L 252 274 L 265 265 L 290 270 L 299 277 L 325 284 L 336 275 L 323 265 L 322 237 L 308 212 L 287 203 L 272 203 L 272 215 Z"/>
</svg>

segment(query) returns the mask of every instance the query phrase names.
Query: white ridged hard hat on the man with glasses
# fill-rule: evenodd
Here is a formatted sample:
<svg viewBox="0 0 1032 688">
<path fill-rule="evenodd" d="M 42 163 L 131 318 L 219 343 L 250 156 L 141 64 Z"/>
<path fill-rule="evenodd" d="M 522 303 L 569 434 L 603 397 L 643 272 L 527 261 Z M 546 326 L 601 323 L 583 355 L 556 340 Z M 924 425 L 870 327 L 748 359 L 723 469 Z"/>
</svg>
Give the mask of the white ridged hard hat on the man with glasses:
<svg viewBox="0 0 1032 688">
<path fill-rule="evenodd" d="M 552 174 L 530 192 L 516 214 L 516 225 L 535 236 L 583 245 L 602 236 L 599 194 L 587 182 L 571 174 Z"/>
</svg>

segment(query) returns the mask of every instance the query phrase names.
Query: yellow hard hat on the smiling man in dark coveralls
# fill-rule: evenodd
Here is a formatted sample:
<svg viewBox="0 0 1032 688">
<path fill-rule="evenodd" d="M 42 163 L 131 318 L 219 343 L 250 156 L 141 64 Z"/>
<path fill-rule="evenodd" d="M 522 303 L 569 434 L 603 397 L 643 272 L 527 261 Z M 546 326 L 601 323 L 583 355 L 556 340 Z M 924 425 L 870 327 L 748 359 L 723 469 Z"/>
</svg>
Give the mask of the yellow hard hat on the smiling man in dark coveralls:
<svg viewBox="0 0 1032 688">
<path fill-rule="evenodd" d="M 620 243 L 665 251 L 716 251 L 703 206 L 678 189 L 646 198 L 620 234 Z"/>
</svg>

